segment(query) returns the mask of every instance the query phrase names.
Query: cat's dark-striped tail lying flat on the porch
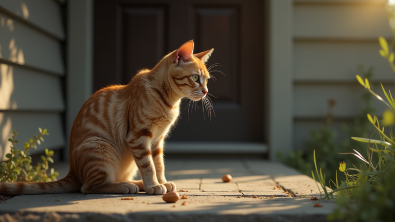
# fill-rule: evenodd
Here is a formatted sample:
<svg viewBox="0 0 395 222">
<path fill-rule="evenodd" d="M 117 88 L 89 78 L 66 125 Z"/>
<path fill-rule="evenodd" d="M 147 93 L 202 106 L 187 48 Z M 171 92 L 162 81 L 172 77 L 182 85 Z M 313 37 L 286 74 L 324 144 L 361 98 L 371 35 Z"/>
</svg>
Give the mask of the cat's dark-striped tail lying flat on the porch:
<svg viewBox="0 0 395 222">
<path fill-rule="evenodd" d="M 73 174 L 53 182 L 0 182 L 0 195 L 17 196 L 27 194 L 55 194 L 80 192 L 80 186 Z"/>
</svg>

